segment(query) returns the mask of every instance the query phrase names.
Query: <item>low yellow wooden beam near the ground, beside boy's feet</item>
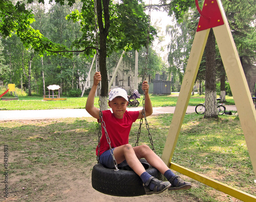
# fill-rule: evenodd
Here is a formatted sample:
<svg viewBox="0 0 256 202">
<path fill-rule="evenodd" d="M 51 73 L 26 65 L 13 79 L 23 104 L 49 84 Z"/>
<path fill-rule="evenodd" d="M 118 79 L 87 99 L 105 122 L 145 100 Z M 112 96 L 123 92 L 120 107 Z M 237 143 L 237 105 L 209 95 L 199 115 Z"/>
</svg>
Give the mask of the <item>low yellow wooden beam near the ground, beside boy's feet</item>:
<svg viewBox="0 0 256 202">
<path fill-rule="evenodd" d="M 214 189 L 222 191 L 222 192 L 224 192 L 230 196 L 233 196 L 235 198 L 238 198 L 240 200 L 248 201 L 248 202 L 256 201 L 256 197 L 251 194 L 248 194 L 248 193 L 238 190 L 236 188 L 230 187 L 226 184 L 220 183 L 220 182 L 216 181 L 215 179 L 211 179 L 211 178 L 204 176 L 200 173 L 197 173 L 193 170 L 189 170 L 185 167 L 182 167 L 178 164 L 170 163 L 170 168 L 173 170 L 176 170 L 186 176 L 189 176 L 193 179 L 196 179 L 196 181 L 199 181 L 205 185 L 208 185 Z"/>
</svg>

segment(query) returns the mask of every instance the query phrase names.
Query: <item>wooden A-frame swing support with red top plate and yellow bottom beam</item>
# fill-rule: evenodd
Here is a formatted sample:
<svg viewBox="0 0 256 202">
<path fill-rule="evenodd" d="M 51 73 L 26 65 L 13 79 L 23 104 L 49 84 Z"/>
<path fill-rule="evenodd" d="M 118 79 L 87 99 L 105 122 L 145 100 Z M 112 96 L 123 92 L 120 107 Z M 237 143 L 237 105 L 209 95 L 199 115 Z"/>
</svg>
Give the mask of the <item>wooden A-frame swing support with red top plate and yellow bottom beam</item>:
<svg viewBox="0 0 256 202">
<path fill-rule="evenodd" d="M 256 201 L 256 197 L 251 194 L 232 188 L 228 185 L 215 181 L 214 179 L 196 173 L 175 163 L 171 163 L 174 150 L 178 141 L 182 122 L 186 113 L 188 101 L 193 89 L 193 84 L 195 83 L 196 80 L 197 72 L 202 59 L 208 34 L 210 28 L 212 28 L 220 50 L 221 58 L 230 84 L 233 99 L 234 102 L 236 103 L 236 107 L 239 113 L 240 122 L 244 132 L 244 137 L 250 155 L 253 171 L 254 173 L 256 173 L 256 110 L 253 106 L 252 98 L 244 75 L 242 64 L 239 59 L 236 45 L 234 44 L 233 37 L 231 35 L 231 31 L 228 26 L 228 21 L 224 9 L 222 7 L 221 1 L 205 0 L 204 7 L 201 11 L 202 13 L 200 13 L 200 19 L 204 17 L 205 19 L 209 20 L 210 18 L 207 17 L 208 13 L 205 12 L 206 16 L 203 16 L 203 11 L 204 9 L 206 10 L 206 6 L 210 8 L 211 5 L 217 3 L 219 6 L 218 12 L 221 13 L 221 16 L 223 18 L 223 25 L 215 25 L 212 27 L 206 25 L 207 29 L 202 29 L 201 25 L 198 25 L 198 32 L 196 32 L 194 42 L 190 51 L 184 79 L 180 89 L 179 98 L 177 101 L 174 116 L 169 127 L 168 136 L 163 150 L 162 160 L 169 168 L 172 168 L 173 170 L 176 170 L 182 174 L 194 178 L 197 181 L 204 183 L 212 188 L 220 190 L 243 201 Z M 201 30 L 199 28 L 201 28 Z"/>
</svg>

